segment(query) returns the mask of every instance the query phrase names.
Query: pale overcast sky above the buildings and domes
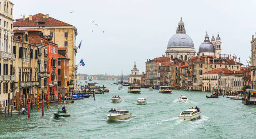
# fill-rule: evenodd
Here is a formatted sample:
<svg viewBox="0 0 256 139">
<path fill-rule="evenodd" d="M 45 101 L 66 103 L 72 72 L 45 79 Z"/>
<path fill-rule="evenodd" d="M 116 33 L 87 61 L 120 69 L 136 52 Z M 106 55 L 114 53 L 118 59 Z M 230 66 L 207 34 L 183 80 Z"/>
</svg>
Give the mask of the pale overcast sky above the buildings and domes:
<svg viewBox="0 0 256 139">
<path fill-rule="evenodd" d="M 83 40 L 77 64 L 81 58 L 85 63 L 78 73 L 118 75 L 123 70 L 130 74 L 134 61 L 144 72 L 146 59 L 165 54 L 180 16 L 195 51 L 206 31 L 210 38 L 219 32 L 222 54 L 236 54 L 245 65 L 251 55 L 251 35 L 256 32 L 256 0 L 11 1 L 14 19 L 43 13 L 77 28 L 76 45 Z"/>
</svg>

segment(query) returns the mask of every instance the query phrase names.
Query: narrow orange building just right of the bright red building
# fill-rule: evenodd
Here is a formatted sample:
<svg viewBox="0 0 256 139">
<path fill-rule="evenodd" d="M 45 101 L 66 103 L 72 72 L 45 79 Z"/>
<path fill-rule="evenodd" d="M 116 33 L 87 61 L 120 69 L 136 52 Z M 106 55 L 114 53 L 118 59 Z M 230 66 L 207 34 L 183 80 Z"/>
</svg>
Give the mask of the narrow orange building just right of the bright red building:
<svg viewBox="0 0 256 139">
<path fill-rule="evenodd" d="M 66 48 L 58 49 L 58 92 L 68 94 L 69 58 Z"/>
</svg>

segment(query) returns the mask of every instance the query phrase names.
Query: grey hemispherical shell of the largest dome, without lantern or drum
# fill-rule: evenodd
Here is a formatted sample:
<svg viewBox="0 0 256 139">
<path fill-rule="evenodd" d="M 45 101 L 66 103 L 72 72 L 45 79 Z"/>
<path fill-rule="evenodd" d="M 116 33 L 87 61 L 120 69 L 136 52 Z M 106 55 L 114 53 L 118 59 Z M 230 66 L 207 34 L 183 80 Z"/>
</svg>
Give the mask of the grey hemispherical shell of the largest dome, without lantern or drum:
<svg viewBox="0 0 256 139">
<path fill-rule="evenodd" d="M 170 47 L 191 47 L 194 48 L 194 43 L 189 35 L 185 33 L 176 33 L 174 34 L 169 42 L 167 48 Z"/>
</svg>

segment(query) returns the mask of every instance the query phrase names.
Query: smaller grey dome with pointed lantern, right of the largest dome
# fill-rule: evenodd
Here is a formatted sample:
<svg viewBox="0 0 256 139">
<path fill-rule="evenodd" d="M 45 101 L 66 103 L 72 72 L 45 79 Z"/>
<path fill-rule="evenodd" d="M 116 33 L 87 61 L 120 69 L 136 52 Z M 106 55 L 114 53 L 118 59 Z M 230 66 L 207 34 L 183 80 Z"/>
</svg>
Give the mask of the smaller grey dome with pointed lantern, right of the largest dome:
<svg viewBox="0 0 256 139">
<path fill-rule="evenodd" d="M 199 50 L 198 50 L 199 53 L 202 53 L 202 52 L 212 52 L 212 53 L 215 53 L 215 48 L 213 46 L 213 44 L 209 41 L 209 36 L 206 32 L 206 35 L 205 35 L 205 40 L 203 43 L 200 44 L 199 46 Z"/>
</svg>

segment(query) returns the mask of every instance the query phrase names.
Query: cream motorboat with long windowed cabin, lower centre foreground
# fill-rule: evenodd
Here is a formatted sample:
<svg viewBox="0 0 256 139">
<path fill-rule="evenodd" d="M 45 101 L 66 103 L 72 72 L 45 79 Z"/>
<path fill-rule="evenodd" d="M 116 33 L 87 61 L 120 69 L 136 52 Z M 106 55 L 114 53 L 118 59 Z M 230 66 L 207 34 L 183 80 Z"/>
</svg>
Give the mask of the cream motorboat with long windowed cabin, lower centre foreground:
<svg viewBox="0 0 256 139">
<path fill-rule="evenodd" d="M 110 110 L 108 111 L 108 116 L 109 120 L 126 120 L 131 118 L 132 113 L 130 111 L 122 111 L 122 110 Z"/>
</svg>

